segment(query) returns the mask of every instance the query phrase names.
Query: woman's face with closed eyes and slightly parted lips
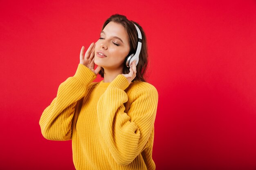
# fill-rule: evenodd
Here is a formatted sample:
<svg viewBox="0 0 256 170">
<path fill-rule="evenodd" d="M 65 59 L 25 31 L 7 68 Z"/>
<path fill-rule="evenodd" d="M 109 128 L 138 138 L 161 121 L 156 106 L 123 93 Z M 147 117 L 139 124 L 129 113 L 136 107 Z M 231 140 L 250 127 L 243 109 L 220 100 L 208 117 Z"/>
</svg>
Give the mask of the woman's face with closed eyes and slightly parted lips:
<svg viewBox="0 0 256 170">
<path fill-rule="evenodd" d="M 121 69 L 129 52 L 129 37 L 124 26 L 109 22 L 95 43 L 94 63 L 103 68 Z"/>
</svg>

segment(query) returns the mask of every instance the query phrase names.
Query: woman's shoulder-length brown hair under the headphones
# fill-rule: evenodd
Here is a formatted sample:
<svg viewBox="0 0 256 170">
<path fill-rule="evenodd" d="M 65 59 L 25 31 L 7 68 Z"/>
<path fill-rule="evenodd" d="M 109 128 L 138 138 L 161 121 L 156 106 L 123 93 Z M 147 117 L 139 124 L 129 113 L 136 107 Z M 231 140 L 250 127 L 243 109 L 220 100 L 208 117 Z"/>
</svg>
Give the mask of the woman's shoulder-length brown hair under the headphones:
<svg viewBox="0 0 256 170">
<path fill-rule="evenodd" d="M 146 82 L 144 74 L 146 73 L 146 68 L 148 65 L 148 46 L 147 46 L 147 40 L 146 40 L 144 30 L 137 22 L 128 20 L 126 16 L 119 15 L 119 14 L 110 16 L 110 18 L 108 18 L 103 24 L 102 30 L 111 21 L 124 26 L 124 28 L 128 33 L 128 37 L 130 41 L 130 53 L 128 54 L 128 56 L 136 52 L 137 43 L 138 43 L 138 33 L 134 24 L 136 24 L 139 27 L 139 30 L 141 31 L 141 35 L 142 35 L 141 51 L 139 53 L 139 62 L 136 66 L 136 70 L 137 70 L 136 77 L 132 81 L 139 80 L 142 82 Z M 130 72 L 129 68 L 126 66 L 126 63 L 124 62 L 123 74 L 128 74 L 129 72 Z M 101 75 L 101 77 L 104 77 L 103 68 L 101 68 L 101 71 L 99 72 L 99 74 Z"/>
</svg>

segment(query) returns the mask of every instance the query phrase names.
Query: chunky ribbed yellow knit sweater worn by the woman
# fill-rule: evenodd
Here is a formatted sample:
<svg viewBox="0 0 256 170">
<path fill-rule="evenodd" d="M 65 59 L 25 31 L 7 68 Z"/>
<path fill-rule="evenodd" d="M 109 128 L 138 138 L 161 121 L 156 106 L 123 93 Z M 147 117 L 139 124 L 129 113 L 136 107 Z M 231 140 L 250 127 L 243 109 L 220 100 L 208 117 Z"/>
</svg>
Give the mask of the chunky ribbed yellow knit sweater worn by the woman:
<svg viewBox="0 0 256 170">
<path fill-rule="evenodd" d="M 152 159 L 158 93 L 146 82 L 111 83 L 79 64 L 39 124 L 49 140 L 72 139 L 76 170 L 155 170 Z"/>
</svg>

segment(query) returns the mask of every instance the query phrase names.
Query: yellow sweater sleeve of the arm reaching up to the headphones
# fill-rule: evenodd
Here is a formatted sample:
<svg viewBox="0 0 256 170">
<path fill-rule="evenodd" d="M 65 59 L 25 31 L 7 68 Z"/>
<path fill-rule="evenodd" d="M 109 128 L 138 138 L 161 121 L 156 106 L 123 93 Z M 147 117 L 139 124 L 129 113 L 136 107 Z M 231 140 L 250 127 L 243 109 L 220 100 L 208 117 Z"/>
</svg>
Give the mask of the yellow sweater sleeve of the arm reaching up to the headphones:
<svg viewBox="0 0 256 170">
<path fill-rule="evenodd" d="M 154 86 L 136 87 L 130 109 L 125 113 L 124 103 L 129 86 L 124 75 L 118 75 L 100 97 L 97 104 L 98 121 L 103 139 L 119 165 L 128 165 L 144 149 L 153 130 L 158 93 Z"/>
</svg>

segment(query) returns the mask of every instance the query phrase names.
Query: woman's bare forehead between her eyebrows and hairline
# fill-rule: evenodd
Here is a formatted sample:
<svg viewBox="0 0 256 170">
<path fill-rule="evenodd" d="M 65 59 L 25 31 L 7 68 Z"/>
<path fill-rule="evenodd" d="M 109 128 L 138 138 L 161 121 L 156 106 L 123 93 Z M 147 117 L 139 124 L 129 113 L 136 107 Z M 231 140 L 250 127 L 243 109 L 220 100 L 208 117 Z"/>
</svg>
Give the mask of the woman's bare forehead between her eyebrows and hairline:
<svg viewBox="0 0 256 170">
<path fill-rule="evenodd" d="M 108 37 L 119 37 L 123 42 L 129 42 L 129 37 L 123 25 L 116 22 L 109 22 L 102 30 Z"/>
</svg>

